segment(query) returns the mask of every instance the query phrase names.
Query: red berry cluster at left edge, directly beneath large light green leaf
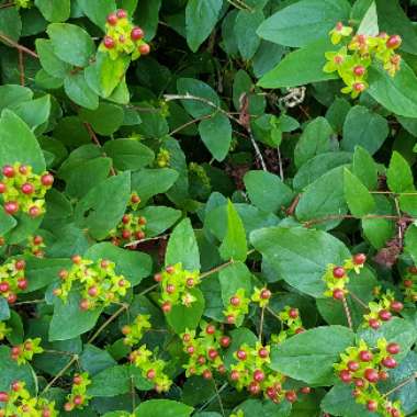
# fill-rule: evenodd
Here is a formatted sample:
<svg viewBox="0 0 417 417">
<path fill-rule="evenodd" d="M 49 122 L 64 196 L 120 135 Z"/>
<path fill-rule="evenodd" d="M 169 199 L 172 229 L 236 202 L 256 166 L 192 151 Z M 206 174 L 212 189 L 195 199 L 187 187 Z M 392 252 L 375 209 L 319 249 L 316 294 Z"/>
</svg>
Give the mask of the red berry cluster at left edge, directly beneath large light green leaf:
<svg viewBox="0 0 417 417">
<path fill-rule="evenodd" d="M 4 166 L 2 173 L 0 194 L 5 213 L 12 215 L 22 211 L 31 217 L 37 217 L 45 212 L 45 194 L 54 183 L 49 172 L 37 176 L 33 173 L 32 167 L 14 164 Z"/>
</svg>

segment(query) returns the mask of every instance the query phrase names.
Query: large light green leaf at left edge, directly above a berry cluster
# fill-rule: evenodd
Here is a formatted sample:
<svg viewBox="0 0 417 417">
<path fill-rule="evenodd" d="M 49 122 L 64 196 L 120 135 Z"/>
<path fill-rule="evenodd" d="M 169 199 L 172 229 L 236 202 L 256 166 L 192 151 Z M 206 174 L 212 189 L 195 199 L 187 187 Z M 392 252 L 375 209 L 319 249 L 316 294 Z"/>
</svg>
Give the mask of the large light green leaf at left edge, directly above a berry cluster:
<svg viewBox="0 0 417 417">
<path fill-rule="evenodd" d="M 35 135 L 12 111 L 3 110 L 0 119 L 0 167 L 27 164 L 35 172 L 45 170 L 45 159 Z"/>
</svg>

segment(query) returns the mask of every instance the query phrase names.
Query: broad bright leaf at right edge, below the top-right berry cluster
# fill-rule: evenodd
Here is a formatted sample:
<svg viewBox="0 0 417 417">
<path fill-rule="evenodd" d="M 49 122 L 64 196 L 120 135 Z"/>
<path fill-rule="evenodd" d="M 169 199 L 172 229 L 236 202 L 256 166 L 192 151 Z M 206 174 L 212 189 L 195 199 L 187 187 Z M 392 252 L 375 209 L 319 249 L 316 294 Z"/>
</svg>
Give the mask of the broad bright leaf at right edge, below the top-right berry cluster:
<svg viewBox="0 0 417 417">
<path fill-rule="evenodd" d="M 385 109 L 399 116 L 417 117 L 417 77 L 404 60 L 395 77 L 371 67 L 369 84 L 368 93 Z"/>
</svg>

